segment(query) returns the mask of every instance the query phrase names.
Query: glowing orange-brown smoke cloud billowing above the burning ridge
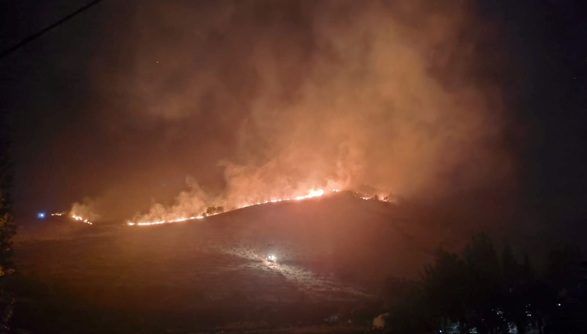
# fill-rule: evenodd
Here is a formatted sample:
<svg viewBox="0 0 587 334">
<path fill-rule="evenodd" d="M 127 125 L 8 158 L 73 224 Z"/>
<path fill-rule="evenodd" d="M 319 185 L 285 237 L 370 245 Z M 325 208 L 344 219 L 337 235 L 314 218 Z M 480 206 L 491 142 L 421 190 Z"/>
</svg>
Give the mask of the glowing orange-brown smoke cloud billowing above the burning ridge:
<svg viewBox="0 0 587 334">
<path fill-rule="evenodd" d="M 118 16 L 104 26 L 92 70 L 99 95 L 92 109 L 103 131 L 119 152 L 151 150 L 125 162 L 128 173 L 152 178 L 177 172 L 153 165 L 193 168 L 175 203 L 153 205 L 144 219 L 311 188 L 369 186 L 434 199 L 512 175 L 500 82 L 479 70 L 499 52 L 480 52 L 494 36 L 471 6 L 109 6 Z M 134 196 L 144 198 L 139 183 Z M 120 185 L 105 188 L 95 211 L 144 209 L 145 201 L 112 190 Z"/>
</svg>

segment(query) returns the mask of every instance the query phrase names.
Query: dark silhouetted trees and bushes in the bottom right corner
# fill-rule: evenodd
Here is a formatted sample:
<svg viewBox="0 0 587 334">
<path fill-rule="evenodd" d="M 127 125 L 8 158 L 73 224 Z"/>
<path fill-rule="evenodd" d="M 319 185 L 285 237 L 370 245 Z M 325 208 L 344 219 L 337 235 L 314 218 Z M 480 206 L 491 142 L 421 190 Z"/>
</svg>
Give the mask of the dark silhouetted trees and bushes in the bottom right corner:
<svg viewBox="0 0 587 334">
<path fill-rule="evenodd" d="M 485 233 L 461 253 L 438 250 L 421 280 L 390 279 L 386 330 L 394 333 L 585 333 L 587 262 L 581 250 L 549 253 L 541 273 Z"/>
</svg>

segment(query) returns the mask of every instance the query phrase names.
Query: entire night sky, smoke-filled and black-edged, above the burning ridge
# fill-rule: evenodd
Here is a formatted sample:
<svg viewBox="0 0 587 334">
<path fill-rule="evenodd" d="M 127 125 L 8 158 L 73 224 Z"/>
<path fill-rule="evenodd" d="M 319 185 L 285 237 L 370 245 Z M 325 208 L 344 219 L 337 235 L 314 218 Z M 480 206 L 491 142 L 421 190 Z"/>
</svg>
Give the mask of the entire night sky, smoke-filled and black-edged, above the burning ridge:
<svg viewBox="0 0 587 334">
<path fill-rule="evenodd" d="M 84 3 L 2 1 L 0 49 Z M 100 2 L 0 59 L 16 218 L 88 198 L 117 221 L 261 170 L 585 236 L 585 4 L 410 3 Z"/>
</svg>

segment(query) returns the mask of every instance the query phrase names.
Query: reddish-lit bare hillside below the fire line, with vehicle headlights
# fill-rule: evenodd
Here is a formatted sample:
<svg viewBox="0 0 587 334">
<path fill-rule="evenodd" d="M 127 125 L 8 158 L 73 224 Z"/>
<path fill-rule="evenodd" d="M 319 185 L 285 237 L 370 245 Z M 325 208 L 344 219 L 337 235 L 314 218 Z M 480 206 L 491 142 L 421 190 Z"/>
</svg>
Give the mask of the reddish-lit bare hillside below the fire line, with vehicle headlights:
<svg viewBox="0 0 587 334">
<path fill-rule="evenodd" d="M 373 300 L 386 276 L 415 275 L 430 248 L 396 205 L 339 194 L 169 225 L 83 226 L 16 250 L 22 272 L 87 302 L 209 320 L 227 305 L 252 319 L 265 312 L 252 305 Z"/>
</svg>

